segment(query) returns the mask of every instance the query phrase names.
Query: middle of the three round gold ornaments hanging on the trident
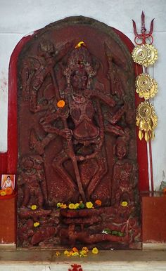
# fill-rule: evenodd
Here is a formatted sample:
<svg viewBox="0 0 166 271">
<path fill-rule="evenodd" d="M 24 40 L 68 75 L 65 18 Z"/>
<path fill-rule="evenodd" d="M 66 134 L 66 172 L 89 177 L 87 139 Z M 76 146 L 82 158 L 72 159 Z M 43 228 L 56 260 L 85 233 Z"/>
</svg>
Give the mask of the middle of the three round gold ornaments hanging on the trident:
<svg viewBox="0 0 166 271">
<path fill-rule="evenodd" d="M 148 100 L 158 92 L 158 83 L 149 74 L 139 74 L 136 77 L 136 93 L 140 98 Z"/>
</svg>

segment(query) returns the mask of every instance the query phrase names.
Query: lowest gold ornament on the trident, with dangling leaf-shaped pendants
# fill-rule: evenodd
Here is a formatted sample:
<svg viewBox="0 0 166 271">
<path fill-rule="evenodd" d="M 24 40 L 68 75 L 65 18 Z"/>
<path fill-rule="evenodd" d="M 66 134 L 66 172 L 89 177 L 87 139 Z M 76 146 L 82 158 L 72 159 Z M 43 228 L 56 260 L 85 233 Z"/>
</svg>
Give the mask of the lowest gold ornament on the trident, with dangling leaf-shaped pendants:
<svg viewBox="0 0 166 271">
<path fill-rule="evenodd" d="M 155 114 L 155 108 L 151 103 L 140 103 L 136 109 L 136 126 L 139 127 L 139 139 L 143 138 L 143 131 L 145 140 L 154 139 L 154 129 L 158 125 L 158 117 Z"/>
</svg>

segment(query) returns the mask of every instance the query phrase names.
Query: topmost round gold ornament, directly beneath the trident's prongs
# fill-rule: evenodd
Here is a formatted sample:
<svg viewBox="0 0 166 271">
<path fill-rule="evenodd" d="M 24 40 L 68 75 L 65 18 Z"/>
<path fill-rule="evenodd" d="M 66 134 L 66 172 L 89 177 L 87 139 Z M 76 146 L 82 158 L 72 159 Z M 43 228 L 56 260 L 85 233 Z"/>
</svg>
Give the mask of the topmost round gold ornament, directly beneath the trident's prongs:
<svg viewBox="0 0 166 271">
<path fill-rule="evenodd" d="M 134 47 L 132 58 L 137 64 L 148 67 L 158 59 L 158 50 L 151 44 L 142 44 Z"/>
</svg>

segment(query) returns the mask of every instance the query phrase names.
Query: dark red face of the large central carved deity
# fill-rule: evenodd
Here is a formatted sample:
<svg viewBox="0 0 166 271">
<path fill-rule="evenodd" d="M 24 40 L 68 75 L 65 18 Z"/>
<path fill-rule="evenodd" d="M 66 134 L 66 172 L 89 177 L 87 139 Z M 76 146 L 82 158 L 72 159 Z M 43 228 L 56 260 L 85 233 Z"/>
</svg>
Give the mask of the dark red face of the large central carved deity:
<svg viewBox="0 0 166 271">
<path fill-rule="evenodd" d="M 76 70 L 72 72 L 71 84 L 74 91 L 81 91 L 87 88 L 88 74 L 85 70 Z"/>
</svg>

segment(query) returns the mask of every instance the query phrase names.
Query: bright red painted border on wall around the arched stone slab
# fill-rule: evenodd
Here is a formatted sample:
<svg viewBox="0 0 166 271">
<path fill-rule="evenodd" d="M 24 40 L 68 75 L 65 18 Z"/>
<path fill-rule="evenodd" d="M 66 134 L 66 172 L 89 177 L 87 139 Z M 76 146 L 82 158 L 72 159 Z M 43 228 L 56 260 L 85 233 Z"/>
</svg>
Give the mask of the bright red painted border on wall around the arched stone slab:
<svg viewBox="0 0 166 271">
<path fill-rule="evenodd" d="M 134 44 L 130 39 L 119 30 L 113 28 L 116 34 L 126 44 L 130 53 L 134 48 Z M 35 32 L 34 34 L 36 34 Z M 0 154 L 0 173 L 16 174 L 17 161 L 18 161 L 18 129 L 17 129 L 17 92 L 18 92 L 18 74 L 17 74 L 17 60 L 23 46 L 30 41 L 34 36 L 23 37 L 20 42 L 15 46 L 11 55 L 9 71 L 8 71 L 8 152 Z M 134 65 L 136 76 L 142 72 L 140 65 Z M 139 105 L 139 97 L 136 95 L 136 107 Z M 136 128 L 138 134 L 138 129 Z M 137 157 L 139 163 L 139 190 L 148 191 L 148 155 L 147 145 L 145 140 L 137 138 Z"/>
</svg>

